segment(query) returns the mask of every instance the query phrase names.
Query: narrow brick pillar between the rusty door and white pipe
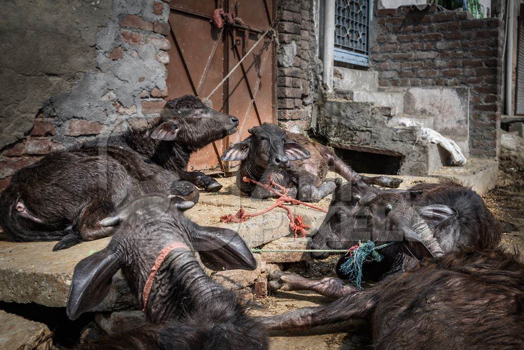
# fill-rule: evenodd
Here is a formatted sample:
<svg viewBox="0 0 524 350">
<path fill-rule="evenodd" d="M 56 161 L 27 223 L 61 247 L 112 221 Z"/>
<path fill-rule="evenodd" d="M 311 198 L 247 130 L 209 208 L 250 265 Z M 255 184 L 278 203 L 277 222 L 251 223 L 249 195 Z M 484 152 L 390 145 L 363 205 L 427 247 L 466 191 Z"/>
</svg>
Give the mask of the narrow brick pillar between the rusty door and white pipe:
<svg viewBox="0 0 524 350">
<path fill-rule="evenodd" d="M 310 128 L 316 99 L 316 36 L 311 0 L 277 1 L 278 39 L 277 98 L 278 120 L 284 128 Z"/>
</svg>

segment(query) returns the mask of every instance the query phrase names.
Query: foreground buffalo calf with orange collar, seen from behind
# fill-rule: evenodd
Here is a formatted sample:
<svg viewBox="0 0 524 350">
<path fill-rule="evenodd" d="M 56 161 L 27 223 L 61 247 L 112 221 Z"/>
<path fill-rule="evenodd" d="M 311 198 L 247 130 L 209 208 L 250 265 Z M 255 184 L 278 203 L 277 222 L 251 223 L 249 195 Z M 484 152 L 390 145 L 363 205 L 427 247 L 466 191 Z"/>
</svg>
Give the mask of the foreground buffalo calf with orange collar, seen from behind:
<svg viewBox="0 0 524 350">
<path fill-rule="evenodd" d="M 67 304 L 70 319 L 99 304 L 122 269 L 149 322 L 87 344 L 89 349 L 267 347 L 263 328 L 244 313 L 232 292 L 205 275 L 192 250 L 219 271 L 254 270 L 253 254 L 236 232 L 196 225 L 177 206 L 165 195 L 134 200 L 108 218 L 120 223 L 109 245 L 75 267 Z M 165 259 L 158 266 L 162 253 Z M 148 284 L 154 266 L 158 270 Z"/>
</svg>

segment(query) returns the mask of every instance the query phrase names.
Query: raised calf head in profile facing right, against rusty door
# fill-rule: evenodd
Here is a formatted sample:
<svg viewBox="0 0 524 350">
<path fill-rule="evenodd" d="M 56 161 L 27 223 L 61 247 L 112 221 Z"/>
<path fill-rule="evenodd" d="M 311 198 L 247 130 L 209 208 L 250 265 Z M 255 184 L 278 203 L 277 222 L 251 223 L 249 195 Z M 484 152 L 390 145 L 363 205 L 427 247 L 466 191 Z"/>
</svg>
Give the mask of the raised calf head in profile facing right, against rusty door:
<svg viewBox="0 0 524 350">
<path fill-rule="evenodd" d="M 230 114 L 215 111 L 198 97 L 186 95 L 166 103 L 161 123 L 151 132 L 152 139 L 177 141 L 189 150 L 234 134 L 238 119 Z"/>
</svg>

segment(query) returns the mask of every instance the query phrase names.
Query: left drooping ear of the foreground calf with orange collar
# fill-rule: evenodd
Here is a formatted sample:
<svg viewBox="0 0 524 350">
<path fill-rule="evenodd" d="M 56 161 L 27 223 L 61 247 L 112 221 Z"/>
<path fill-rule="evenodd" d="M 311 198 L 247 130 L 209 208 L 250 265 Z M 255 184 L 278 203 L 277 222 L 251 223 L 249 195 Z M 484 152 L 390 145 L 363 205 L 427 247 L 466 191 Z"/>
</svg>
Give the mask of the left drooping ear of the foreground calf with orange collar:
<svg viewBox="0 0 524 350">
<path fill-rule="evenodd" d="M 65 309 L 70 320 L 77 319 L 104 300 L 119 268 L 118 258 L 108 248 L 80 260 L 74 268 Z"/>
</svg>

